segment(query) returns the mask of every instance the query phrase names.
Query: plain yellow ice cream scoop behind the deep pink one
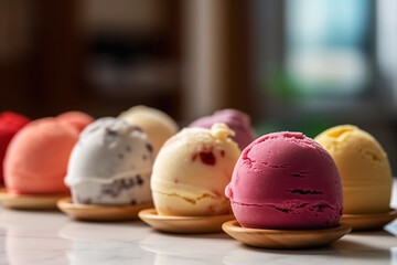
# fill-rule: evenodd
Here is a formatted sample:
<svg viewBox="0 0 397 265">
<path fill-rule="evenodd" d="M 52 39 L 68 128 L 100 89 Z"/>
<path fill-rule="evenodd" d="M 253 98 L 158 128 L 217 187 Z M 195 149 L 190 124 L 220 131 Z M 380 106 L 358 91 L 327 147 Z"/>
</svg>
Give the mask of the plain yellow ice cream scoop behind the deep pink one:
<svg viewBox="0 0 397 265">
<path fill-rule="evenodd" d="M 341 174 L 344 213 L 388 212 L 391 170 L 387 155 L 369 134 L 352 125 L 332 127 L 314 138 L 334 159 Z"/>
</svg>

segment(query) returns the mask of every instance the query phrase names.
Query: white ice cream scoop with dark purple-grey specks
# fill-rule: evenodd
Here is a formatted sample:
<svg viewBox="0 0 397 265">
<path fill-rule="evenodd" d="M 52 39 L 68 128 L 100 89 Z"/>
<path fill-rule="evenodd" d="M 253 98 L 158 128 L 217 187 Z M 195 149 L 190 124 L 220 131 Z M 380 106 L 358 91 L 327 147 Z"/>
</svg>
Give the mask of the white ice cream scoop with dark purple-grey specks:
<svg viewBox="0 0 397 265">
<path fill-rule="evenodd" d="M 74 147 L 65 183 L 84 204 L 151 202 L 153 148 L 144 132 L 121 119 L 100 118 Z"/>
</svg>

